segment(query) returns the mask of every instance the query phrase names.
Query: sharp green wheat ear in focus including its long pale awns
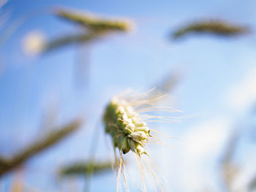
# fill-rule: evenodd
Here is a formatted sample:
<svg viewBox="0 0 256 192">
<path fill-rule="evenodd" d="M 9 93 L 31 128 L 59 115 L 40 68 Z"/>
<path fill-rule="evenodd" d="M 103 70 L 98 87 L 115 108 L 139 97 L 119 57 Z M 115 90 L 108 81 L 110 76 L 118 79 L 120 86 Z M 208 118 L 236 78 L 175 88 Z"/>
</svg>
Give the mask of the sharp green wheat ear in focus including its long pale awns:
<svg viewBox="0 0 256 192">
<path fill-rule="evenodd" d="M 149 169 L 149 172 L 151 172 L 151 176 L 154 177 L 154 181 L 157 182 L 160 191 L 163 191 L 162 183 L 159 182 L 155 170 L 151 167 L 146 159 L 146 157 L 149 157 L 154 163 L 153 158 L 151 158 L 151 156 L 146 152 L 145 147 L 151 142 L 156 142 L 154 139 L 157 139 L 156 143 L 161 143 L 164 145 L 166 144 L 151 134 L 151 132 L 157 132 L 158 134 L 160 133 L 152 128 L 148 128 L 147 122 L 163 121 L 169 123 L 172 117 L 146 115 L 141 114 L 140 112 L 144 113 L 157 110 L 177 112 L 177 110 L 174 110 L 171 107 L 155 107 L 155 102 L 161 99 L 163 96 L 151 98 L 151 94 L 148 93 L 135 96 L 114 97 L 105 109 L 105 114 L 103 118 L 105 123 L 105 132 L 106 134 L 110 134 L 113 142 L 113 147 L 115 149 L 117 148 L 120 153 L 120 159 L 119 161 L 117 161 L 116 150 L 114 150 L 116 157 L 117 180 L 119 175 L 123 177 L 126 191 L 129 191 L 129 187 L 127 185 L 127 180 L 125 176 L 126 168 L 124 164 L 123 154 L 129 153 L 129 151 L 135 154 L 136 160 L 138 161 L 140 167 L 140 180 L 142 191 L 146 191 L 145 178 L 147 177 L 147 180 L 149 180 L 145 168 Z M 155 120 L 155 118 L 157 118 L 157 120 Z M 143 154 L 146 156 L 144 157 Z M 145 167 L 144 163 L 146 163 Z M 158 166 L 155 163 L 154 168 L 157 168 L 157 171 L 160 172 Z M 154 187 L 154 184 L 150 184 L 153 185 L 154 191 L 157 191 Z"/>
</svg>

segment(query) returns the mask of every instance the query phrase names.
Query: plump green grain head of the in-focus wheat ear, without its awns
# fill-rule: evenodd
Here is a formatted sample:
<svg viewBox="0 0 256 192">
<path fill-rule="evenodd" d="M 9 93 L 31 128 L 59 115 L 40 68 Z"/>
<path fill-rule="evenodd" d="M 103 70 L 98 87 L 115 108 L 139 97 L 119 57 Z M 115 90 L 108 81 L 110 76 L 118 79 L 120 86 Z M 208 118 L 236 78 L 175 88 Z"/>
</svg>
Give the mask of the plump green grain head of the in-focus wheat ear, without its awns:
<svg viewBox="0 0 256 192">
<path fill-rule="evenodd" d="M 114 147 L 124 154 L 129 150 L 138 155 L 146 153 L 143 146 L 150 137 L 149 128 L 127 101 L 113 99 L 105 111 L 104 121 L 105 131 L 111 135 Z"/>
</svg>

